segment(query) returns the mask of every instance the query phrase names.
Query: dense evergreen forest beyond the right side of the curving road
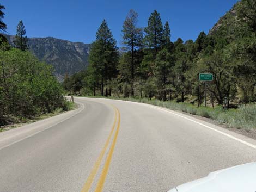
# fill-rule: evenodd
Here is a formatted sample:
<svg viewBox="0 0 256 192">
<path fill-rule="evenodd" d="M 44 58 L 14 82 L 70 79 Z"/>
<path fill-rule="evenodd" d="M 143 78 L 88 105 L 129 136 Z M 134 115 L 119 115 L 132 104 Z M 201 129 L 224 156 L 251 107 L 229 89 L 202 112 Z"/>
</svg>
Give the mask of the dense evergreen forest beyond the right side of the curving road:
<svg viewBox="0 0 256 192">
<path fill-rule="evenodd" d="M 137 26 L 138 14 L 125 18 L 122 51 L 105 20 L 96 33 L 86 71 L 66 75 L 64 88 L 74 94 L 148 97 L 202 104 L 204 83 L 199 73 L 212 73 L 208 103 L 255 102 L 256 2 L 236 3 L 218 25 L 196 41 L 170 40 L 168 22 L 155 10 L 148 26 Z M 188 32 L 189 33 L 189 32 Z"/>
</svg>

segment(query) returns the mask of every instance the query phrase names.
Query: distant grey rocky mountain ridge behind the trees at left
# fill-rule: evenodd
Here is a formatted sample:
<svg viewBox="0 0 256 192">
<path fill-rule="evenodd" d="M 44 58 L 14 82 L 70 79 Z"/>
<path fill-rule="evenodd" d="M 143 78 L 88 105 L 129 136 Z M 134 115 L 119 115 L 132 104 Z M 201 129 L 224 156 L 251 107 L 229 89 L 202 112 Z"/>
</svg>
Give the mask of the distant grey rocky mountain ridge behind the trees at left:
<svg viewBox="0 0 256 192">
<path fill-rule="evenodd" d="M 4 34 L 5 35 L 5 34 Z M 14 35 L 5 35 L 14 45 Z M 56 38 L 28 38 L 29 49 L 40 60 L 54 67 L 54 73 L 62 80 L 65 73 L 72 75 L 86 69 L 90 44 L 71 42 Z"/>
</svg>

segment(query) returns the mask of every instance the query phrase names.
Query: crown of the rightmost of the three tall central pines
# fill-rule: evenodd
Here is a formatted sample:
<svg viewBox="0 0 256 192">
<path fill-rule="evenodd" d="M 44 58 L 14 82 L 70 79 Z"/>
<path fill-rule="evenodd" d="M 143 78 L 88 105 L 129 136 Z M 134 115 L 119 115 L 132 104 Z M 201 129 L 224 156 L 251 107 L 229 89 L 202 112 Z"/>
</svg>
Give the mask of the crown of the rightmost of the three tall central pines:
<svg viewBox="0 0 256 192">
<path fill-rule="evenodd" d="M 155 10 L 149 17 L 148 26 L 145 27 L 145 44 L 148 48 L 154 48 L 154 57 L 162 45 L 163 25 L 160 14 Z"/>
</svg>

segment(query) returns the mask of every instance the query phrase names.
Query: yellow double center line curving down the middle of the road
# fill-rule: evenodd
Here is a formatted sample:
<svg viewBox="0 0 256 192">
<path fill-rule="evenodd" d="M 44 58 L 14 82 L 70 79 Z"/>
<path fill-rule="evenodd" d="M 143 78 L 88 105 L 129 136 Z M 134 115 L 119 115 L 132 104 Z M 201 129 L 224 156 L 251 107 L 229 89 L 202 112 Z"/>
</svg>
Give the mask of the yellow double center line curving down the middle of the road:
<svg viewBox="0 0 256 192">
<path fill-rule="evenodd" d="M 114 106 L 112 106 L 112 107 L 114 107 Z M 115 129 L 115 125 L 117 125 L 117 129 L 116 129 L 115 134 L 114 134 L 114 139 L 113 139 L 113 142 L 111 144 L 111 147 L 109 148 L 109 152 L 108 152 L 108 155 L 107 155 L 107 158 L 106 158 L 103 170 L 101 172 L 99 181 L 98 181 L 98 183 L 96 185 L 95 192 L 101 192 L 102 189 L 103 189 L 103 186 L 104 186 L 104 183 L 105 183 L 105 179 L 106 179 L 106 176 L 107 176 L 107 172 L 108 172 L 108 168 L 109 168 L 109 165 L 111 163 L 112 156 L 113 156 L 115 143 L 117 143 L 117 136 L 118 136 L 119 127 L 120 127 L 120 113 L 119 113 L 119 110 L 116 107 L 114 107 L 114 110 L 115 110 L 115 117 L 114 117 L 114 124 L 113 124 L 113 126 L 111 128 L 111 132 L 109 133 L 108 138 L 106 140 L 106 143 L 105 143 L 105 145 L 102 148 L 102 151 L 100 153 L 100 156 L 97 158 L 97 160 L 96 160 L 96 162 L 95 162 L 95 164 L 93 166 L 93 169 L 90 172 L 90 175 L 87 178 L 87 181 L 84 184 L 81 192 L 88 192 L 90 190 L 90 187 L 92 186 L 93 180 L 94 180 L 94 178 L 95 178 L 95 176 L 97 174 L 97 171 L 100 168 L 101 161 L 102 161 L 102 159 L 104 157 L 104 154 L 107 151 L 107 147 L 108 147 L 108 144 L 109 144 L 109 142 L 111 140 L 111 137 L 113 135 L 113 132 L 114 132 L 114 129 Z"/>
</svg>

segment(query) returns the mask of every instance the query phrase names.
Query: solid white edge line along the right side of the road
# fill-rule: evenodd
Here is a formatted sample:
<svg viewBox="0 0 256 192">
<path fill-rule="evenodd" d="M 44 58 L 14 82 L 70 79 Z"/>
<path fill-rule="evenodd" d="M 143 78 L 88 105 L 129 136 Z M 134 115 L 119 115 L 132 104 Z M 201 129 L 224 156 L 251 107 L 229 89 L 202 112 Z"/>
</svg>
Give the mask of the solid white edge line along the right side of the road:
<svg viewBox="0 0 256 192">
<path fill-rule="evenodd" d="M 83 98 L 87 98 L 87 97 L 83 97 Z M 105 99 L 105 98 L 103 98 L 103 99 Z M 107 98 L 106 98 L 106 100 L 111 100 L 111 99 L 107 99 Z M 121 102 L 122 102 L 123 100 L 113 100 L 113 101 L 121 101 Z M 230 139 L 234 139 L 234 140 L 236 140 L 236 141 L 238 141 L 238 142 L 240 142 L 240 143 L 242 143 L 242 144 L 245 144 L 245 145 L 247 145 L 247 146 L 249 146 L 249 147 L 252 147 L 252 148 L 256 149 L 256 145 L 253 145 L 253 144 L 251 144 L 251 143 L 248 143 L 247 141 L 244 141 L 244 140 L 242 140 L 242 139 L 236 138 L 236 137 L 234 137 L 233 135 L 230 135 L 230 134 L 228 134 L 228 133 L 224 133 L 224 132 L 219 131 L 219 130 L 217 130 L 217 129 L 215 129 L 215 128 L 212 128 L 212 127 L 210 127 L 210 126 L 204 125 L 203 123 L 200 123 L 200 122 L 198 122 L 198 121 L 192 120 L 192 119 L 190 119 L 190 118 L 188 118 L 188 117 L 185 117 L 185 116 L 176 114 L 176 113 L 179 113 L 179 112 L 173 113 L 173 112 L 171 112 L 170 109 L 164 109 L 164 108 L 162 108 L 162 107 L 154 106 L 154 105 L 148 104 L 148 103 L 139 103 L 139 102 L 134 102 L 134 101 L 123 101 L 123 102 L 137 103 L 137 104 L 142 104 L 142 105 L 144 105 L 144 106 L 148 106 L 148 107 L 151 107 L 151 108 L 163 110 L 164 112 L 168 112 L 168 113 L 170 113 L 170 114 L 173 114 L 173 115 L 182 117 L 182 118 L 184 118 L 184 119 L 186 119 L 186 120 L 188 120 L 188 121 L 192 121 L 192 122 L 194 122 L 194 123 L 197 123 L 198 125 L 204 126 L 204 127 L 208 128 L 208 129 L 211 129 L 212 131 L 215 131 L 215 132 L 217 132 L 217 133 L 220 133 L 220 134 L 222 134 L 222 135 L 225 135 L 226 137 L 228 137 L 228 138 L 230 138 Z"/>
</svg>

